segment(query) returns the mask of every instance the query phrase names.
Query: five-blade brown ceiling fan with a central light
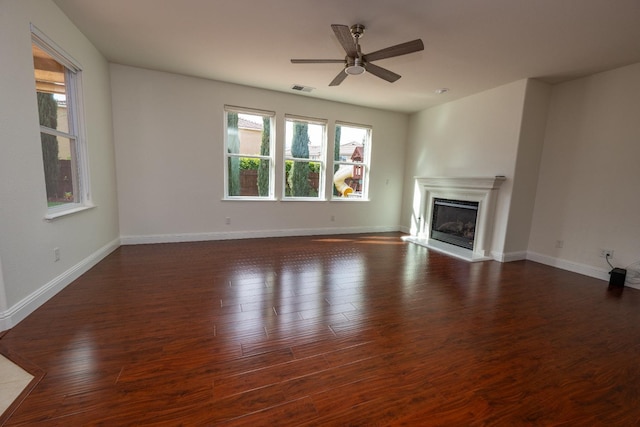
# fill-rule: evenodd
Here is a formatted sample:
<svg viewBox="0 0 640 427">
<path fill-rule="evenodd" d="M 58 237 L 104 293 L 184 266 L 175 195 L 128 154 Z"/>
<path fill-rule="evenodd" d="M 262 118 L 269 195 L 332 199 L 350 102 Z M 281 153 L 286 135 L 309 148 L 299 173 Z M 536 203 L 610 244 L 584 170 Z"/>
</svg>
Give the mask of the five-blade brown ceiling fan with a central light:
<svg viewBox="0 0 640 427">
<path fill-rule="evenodd" d="M 394 56 L 406 55 L 408 53 L 424 50 L 422 40 L 416 39 L 410 42 L 397 44 L 385 49 L 376 50 L 375 52 L 363 55 L 360 50 L 360 37 L 364 34 L 364 25 L 355 24 L 351 27 L 347 25 L 332 24 L 331 28 L 336 34 L 338 41 L 344 48 L 347 56 L 344 59 L 292 59 L 293 64 L 328 64 L 343 63 L 344 70 L 329 83 L 329 86 L 338 86 L 347 78 L 348 75 L 358 75 L 365 71 L 370 72 L 374 76 L 380 77 L 390 83 L 400 78 L 399 74 L 389 71 L 386 68 L 372 64 L 372 61 L 379 59 L 393 58 Z"/>
</svg>

